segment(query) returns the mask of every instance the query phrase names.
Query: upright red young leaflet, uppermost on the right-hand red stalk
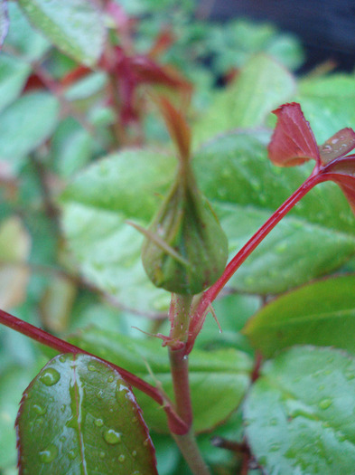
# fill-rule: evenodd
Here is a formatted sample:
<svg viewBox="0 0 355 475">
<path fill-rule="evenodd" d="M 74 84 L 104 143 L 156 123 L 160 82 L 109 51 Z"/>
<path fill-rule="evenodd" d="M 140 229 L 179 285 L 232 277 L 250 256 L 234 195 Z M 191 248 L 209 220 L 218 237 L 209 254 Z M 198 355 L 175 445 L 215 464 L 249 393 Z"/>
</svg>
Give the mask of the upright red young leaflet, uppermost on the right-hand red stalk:
<svg viewBox="0 0 355 475">
<path fill-rule="evenodd" d="M 273 113 L 277 116 L 277 124 L 268 146 L 268 155 L 274 165 L 301 165 L 311 158 L 319 164 L 318 146 L 301 106 L 292 102 Z"/>
</svg>

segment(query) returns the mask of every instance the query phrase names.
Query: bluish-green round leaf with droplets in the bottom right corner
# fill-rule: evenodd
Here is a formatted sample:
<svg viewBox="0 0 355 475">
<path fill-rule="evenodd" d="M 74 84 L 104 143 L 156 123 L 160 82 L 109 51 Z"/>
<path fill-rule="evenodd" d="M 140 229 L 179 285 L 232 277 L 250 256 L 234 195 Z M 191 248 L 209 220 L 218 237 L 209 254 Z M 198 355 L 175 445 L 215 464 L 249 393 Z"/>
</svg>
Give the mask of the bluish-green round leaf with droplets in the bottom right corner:
<svg viewBox="0 0 355 475">
<path fill-rule="evenodd" d="M 295 347 L 267 362 L 248 394 L 248 443 L 267 473 L 351 473 L 354 411 L 354 359 Z"/>
</svg>

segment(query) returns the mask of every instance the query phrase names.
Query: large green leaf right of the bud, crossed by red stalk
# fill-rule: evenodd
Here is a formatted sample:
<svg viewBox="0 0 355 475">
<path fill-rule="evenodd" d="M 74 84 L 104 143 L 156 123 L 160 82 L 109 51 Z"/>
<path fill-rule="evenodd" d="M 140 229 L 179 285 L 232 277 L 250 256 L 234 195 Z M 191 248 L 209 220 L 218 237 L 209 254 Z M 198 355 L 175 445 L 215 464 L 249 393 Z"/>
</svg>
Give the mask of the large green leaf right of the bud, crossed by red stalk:
<svg viewBox="0 0 355 475">
<path fill-rule="evenodd" d="M 277 207 L 304 182 L 307 166 L 278 168 L 262 135 L 221 136 L 197 152 L 193 164 L 202 192 L 219 214 L 234 255 Z M 336 185 L 306 195 L 243 263 L 229 285 L 277 293 L 333 271 L 355 251 L 350 207 Z"/>
</svg>

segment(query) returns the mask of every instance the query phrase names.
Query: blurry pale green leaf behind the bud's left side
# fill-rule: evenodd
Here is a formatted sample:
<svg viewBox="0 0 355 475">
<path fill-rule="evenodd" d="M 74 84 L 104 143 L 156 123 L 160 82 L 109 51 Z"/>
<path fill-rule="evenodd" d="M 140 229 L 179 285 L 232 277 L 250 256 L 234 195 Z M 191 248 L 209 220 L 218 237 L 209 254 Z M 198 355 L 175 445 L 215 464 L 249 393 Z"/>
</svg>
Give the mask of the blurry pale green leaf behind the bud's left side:
<svg viewBox="0 0 355 475">
<path fill-rule="evenodd" d="M 84 275 L 130 308 L 169 306 L 168 293 L 145 275 L 142 235 L 125 220 L 150 221 L 174 167 L 173 157 L 129 150 L 90 166 L 62 195 L 64 232 Z"/>
</svg>

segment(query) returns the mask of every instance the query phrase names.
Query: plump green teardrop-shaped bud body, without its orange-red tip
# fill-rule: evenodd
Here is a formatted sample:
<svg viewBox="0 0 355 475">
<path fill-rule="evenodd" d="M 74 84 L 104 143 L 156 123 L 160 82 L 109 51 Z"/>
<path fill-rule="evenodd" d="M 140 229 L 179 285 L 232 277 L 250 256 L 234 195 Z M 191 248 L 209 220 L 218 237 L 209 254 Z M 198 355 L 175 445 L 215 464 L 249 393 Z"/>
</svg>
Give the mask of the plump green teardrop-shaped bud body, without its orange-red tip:
<svg viewBox="0 0 355 475">
<path fill-rule="evenodd" d="M 216 214 L 198 190 L 190 162 L 183 161 L 173 186 L 151 223 L 157 236 L 182 259 L 146 236 L 145 271 L 156 287 L 195 295 L 220 277 L 228 258 L 228 241 Z"/>
</svg>

